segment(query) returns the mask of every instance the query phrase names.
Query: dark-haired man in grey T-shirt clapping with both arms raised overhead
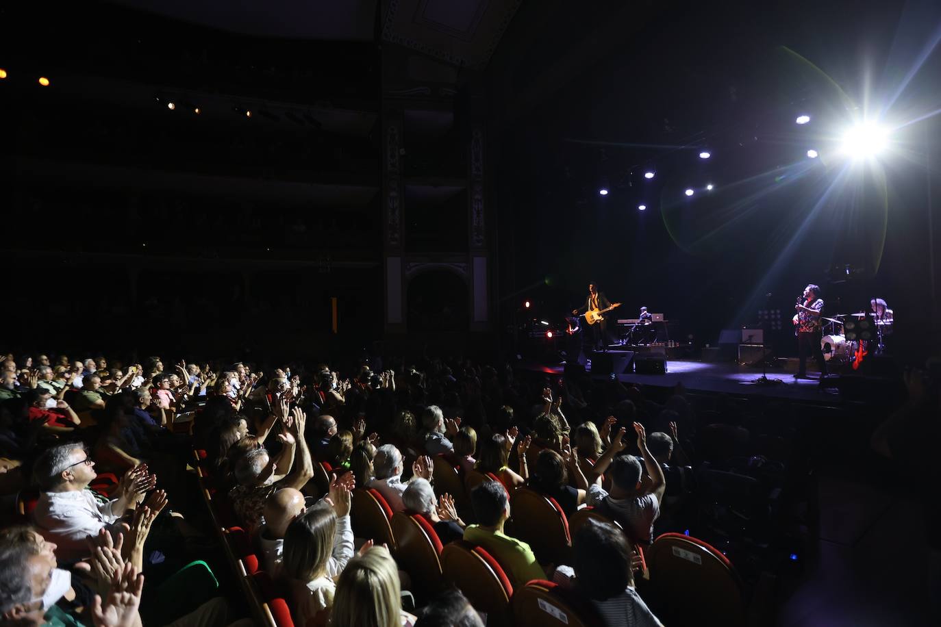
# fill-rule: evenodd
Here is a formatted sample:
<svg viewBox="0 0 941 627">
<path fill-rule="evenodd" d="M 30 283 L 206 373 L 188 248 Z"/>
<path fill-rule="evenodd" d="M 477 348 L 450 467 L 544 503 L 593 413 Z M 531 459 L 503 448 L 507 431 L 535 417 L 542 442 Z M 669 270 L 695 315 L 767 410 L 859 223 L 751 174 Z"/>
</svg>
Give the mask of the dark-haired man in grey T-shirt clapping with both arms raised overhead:
<svg viewBox="0 0 941 627">
<path fill-rule="evenodd" d="M 625 430 L 621 429 L 595 464 L 598 472 L 604 473 L 610 463 L 611 493 L 593 483 L 588 487 L 588 505 L 620 523 L 631 541 L 650 544 L 653 541 L 653 523 L 660 514 L 666 482 L 660 464 L 647 449 L 644 426 L 635 422 L 634 431 L 637 432 L 637 447 L 644 456 L 650 483 L 642 483 L 644 473 L 641 462 L 633 455 L 620 455 L 610 462 L 614 453 L 624 450 L 626 446 L 623 439 Z"/>
</svg>

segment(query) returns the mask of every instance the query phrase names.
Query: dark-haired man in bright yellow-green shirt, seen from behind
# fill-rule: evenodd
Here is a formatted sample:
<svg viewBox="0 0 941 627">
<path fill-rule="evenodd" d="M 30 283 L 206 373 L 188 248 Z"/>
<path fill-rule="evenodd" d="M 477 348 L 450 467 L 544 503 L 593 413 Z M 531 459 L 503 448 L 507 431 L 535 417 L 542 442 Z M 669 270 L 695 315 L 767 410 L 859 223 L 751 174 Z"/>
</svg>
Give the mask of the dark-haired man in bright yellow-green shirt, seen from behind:
<svg viewBox="0 0 941 627">
<path fill-rule="evenodd" d="M 478 524 L 468 525 L 464 540 L 484 547 L 494 556 L 514 586 L 546 578 L 530 545 L 503 533 L 503 525 L 510 517 L 510 500 L 502 484 L 490 480 L 482 482 L 470 491 L 470 505 Z"/>
</svg>

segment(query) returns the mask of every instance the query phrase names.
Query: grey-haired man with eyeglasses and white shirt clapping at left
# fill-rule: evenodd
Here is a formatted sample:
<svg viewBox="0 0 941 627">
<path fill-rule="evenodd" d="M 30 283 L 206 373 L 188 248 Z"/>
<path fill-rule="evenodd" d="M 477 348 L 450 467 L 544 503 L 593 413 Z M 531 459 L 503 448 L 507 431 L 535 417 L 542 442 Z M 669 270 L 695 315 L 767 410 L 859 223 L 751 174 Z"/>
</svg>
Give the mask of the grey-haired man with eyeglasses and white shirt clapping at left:
<svg viewBox="0 0 941 627">
<path fill-rule="evenodd" d="M 56 542 L 56 555 L 63 562 L 88 557 L 88 536 L 110 528 L 156 483 L 146 466 L 137 466 L 120 479 L 117 498 L 99 500 L 88 490 L 97 477 L 94 466 L 88 451 L 76 443 L 49 448 L 36 462 L 35 474 L 43 492 L 33 517 L 47 532 L 43 535 Z"/>
</svg>

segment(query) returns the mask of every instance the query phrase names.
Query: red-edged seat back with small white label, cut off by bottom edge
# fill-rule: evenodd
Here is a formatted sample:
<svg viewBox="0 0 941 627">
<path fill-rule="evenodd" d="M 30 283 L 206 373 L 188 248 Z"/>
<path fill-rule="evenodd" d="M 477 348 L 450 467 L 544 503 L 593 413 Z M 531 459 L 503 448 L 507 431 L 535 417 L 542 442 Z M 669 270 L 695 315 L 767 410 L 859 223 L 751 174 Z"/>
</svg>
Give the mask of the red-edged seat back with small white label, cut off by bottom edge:
<svg viewBox="0 0 941 627">
<path fill-rule="evenodd" d="M 590 602 L 543 579 L 534 579 L 525 587 L 517 588 L 510 605 L 513 623 L 518 627 L 594 627 L 603 624 Z"/>
</svg>

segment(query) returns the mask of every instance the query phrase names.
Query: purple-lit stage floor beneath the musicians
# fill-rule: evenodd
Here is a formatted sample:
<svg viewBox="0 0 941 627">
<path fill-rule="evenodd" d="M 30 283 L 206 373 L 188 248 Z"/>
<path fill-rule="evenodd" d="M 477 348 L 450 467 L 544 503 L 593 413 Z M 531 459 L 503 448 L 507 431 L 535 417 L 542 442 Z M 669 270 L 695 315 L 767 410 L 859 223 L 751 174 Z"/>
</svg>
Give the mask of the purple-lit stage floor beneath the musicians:
<svg viewBox="0 0 941 627">
<path fill-rule="evenodd" d="M 565 364 L 530 364 L 529 370 L 562 374 Z M 595 375 L 600 378 L 610 375 Z M 769 379 L 779 384 L 759 384 L 761 368 L 739 366 L 735 362 L 703 362 L 689 359 L 670 359 L 666 362 L 666 374 L 619 374 L 617 380 L 624 383 L 672 387 L 680 382 L 690 391 L 736 394 L 742 396 L 767 396 L 788 400 L 834 402 L 839 400 L 836 389 L 821 389 L 819 374 L 810 372 L 813 379 L 794 379 L 793 372 L 780 368 L 768 371 Z"/>
</svg>

